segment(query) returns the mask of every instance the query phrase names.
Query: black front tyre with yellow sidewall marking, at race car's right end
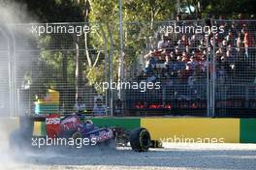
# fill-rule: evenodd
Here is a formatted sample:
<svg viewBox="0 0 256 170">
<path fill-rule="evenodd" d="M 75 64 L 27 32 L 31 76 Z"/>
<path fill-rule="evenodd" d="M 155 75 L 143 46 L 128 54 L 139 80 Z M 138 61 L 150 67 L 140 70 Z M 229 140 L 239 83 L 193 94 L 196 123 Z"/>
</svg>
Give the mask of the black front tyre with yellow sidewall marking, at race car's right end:
<svg viewBox="0 0 256 170">
<path fill-rule="evenodd" d="M 130 144 L 135 152 L 146 152 L 151 146 L 151 138 L 146 128 L 136 128 L 131 131 Z"/>
</svg>

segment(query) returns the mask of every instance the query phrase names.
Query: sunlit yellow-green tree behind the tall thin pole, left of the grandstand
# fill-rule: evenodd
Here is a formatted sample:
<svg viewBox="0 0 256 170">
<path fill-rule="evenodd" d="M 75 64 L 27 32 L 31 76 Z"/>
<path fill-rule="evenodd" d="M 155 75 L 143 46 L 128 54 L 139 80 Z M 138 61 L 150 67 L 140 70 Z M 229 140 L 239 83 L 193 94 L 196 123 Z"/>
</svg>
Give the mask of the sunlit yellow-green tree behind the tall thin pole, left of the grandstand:
<svg viewBox="0 0 256 170">
<path fill-rule="evenodd" d="M 124 1 L 123 4 L 123 29 L 124 29 L 124 52 L 125 69 L 128 69 L 145 48 L 144 37 L 152 36 L 154 22 L 156 20 L 170 19 L 171 14 L 175 12 L 175 1 L 161 0 L 143 0 L 143 1 Z M 111 40 L 113 42 L 113 70 L 117 72 L 119 58 L 119 24 L 118 24 L 118 3 L 116 0 L 101 1 L 91 0 L 90 22 L 102 23 L 102 32 L 108 37 L 108 49 L 111 49 Z M 168 8 L 167 8 L 168 7 Z M 141 22 L 141 23 L 140 23 Z M 91 44 L 97 45 L 103 42 L 104 37 L 99 39 L 91 38 Z M 96 73 L 97 74 L 97 73 Z M 99 75 L 99 74 L 97 74 Z M 90 74 L 90 77 L 92 75 Z M 117 77 L 114 74 L 113 78 Z M 102 78 L 90 78 L 92 80 Z M 90 81 L 89 80 L 89 81 Z"/>
</svg>

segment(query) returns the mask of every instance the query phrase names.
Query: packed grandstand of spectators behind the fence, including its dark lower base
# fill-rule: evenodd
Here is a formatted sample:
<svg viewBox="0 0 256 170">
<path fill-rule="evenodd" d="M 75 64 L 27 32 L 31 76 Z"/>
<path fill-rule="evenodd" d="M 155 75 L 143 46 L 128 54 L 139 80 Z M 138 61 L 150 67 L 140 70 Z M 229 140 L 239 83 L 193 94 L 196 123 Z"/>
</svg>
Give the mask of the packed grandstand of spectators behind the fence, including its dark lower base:
<svg viewBox="0 0 256 170">
<path fill-rule="evenodd" d="M 255 116 L 255 20 L 179 20 L 162 28 L 215 25 L 222 32 L 155 30 L 144 71 L 133 81 L 161 82 L 161 89 L 125 92 L 131 115 Z M 159 26 L 158 26 L 159 28 Z M 163 29 L 162 29 L 163 30 Z M 210 100 L 213 100 L 210 103 Z"/>
</svg>

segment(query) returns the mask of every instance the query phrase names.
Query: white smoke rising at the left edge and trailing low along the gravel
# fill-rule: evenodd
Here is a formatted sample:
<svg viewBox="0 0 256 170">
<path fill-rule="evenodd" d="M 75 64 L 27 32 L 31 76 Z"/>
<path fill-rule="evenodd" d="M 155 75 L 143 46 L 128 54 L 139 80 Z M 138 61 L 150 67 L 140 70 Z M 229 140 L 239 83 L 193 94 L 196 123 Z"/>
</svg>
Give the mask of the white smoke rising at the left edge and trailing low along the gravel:
<svg viewBox="0 0 256 170">
<path fill-rule="evenodd" d="M 5 2 L 5 3 L 4 3 Z M 9 60 L 10 56 L 16 57 L 16 77 L 12 79 L 15 84 L 12 84 L 16 89 L 12 93 L 16 93 L 17 89 L 21 89 L 22 81 L 26 70 L 31 67 L 32 61 L 37 60 L 37 54 L 34 53 L 35 47 L 30 48 L 31 40 L 35 38 L 32 35 L 29 28 L 31 25 L 23 23 L 36 23 L 33 21 L 29 14 L 26 13 L 26 6 L 22 4 L 8 4 L 6 1 L 0 0 L 0 170 L 16 170 L 16 169 L 38 169 L 33 168 L 37 162 L 46 164 L 53 164 L 54 162 L 66 163 L 66 160 L 76 161 L 74 157 L 78 157 L 83 161 L 83 156 L 92 154 L 93 157 L 100 157 L 102 155 L 109 154 L 110 151 L 107 148 L 102 151 L 100 148 L 93 148 L 93 151 L 84 152 L 80 150 L 80 153 L 71 153 L 71 151 L 54 152 L 52 149 L 42 152 L 20 152 L 16 153 L 14 146 L 9 146 L 10 134 L 17 127 L 17 119 L 14 116 L 20 116 L 26 110 L 22 104 L 22 99 L 18 101 L 18 109 L 15 115 L 11 115 L 12 108 L 16 107 L 16 104 L 9 99 L 10 97 L 10 70 Z M 8 45 L 8 38 L 11 39 Z M 12 42 L 15 39 L 15 42 Z M 26 41 L 28 40 L 28 41 Z M 14 44 L 16 51 L 14 51 Z M 34 42 L 32 42 L 34 43 Z M 34 43 L 34 45 L 36 42 Z M 13 51 L 12 51 L 13 50 Z M 21 58 L 20 58 L 21 56 Z M 14 63 L 12 63 L 12 67 Z M 11 96 L 16 94 L 11 94 Z M 17 96 L 15 96 L 16 98 Z M 17 102 L 17 99 L 16 99 Z M 31 100 L 32 102 L 32 100 Z M 24 108 L 22 108 L 24 107 Z M 24 128 L 24 127 L 22 127 Z M 16 141 L 19 141 L 17 138 Z M 29 140 L 28 140 L 29 141 Z M 113 151 L 113 149 L 110 149 Z M 64 153 L 63 153 L 64 152 Z M 105 154 L 102 154 L 105 153 Z M 70 155 L 71 154 L 71 155 Z M 77 156 L 79 155 L 79 156 Z M 18 159 L 16 159 L 18 157 Z M 64 160 L 62 160 L 65 158 Z M 19 160 L 19 161 L 17 161 Z M 20 161 L 21 160 L 21 161 Z M 51 163 L 52 162 L 52 163 Z M 29 164 L 29 165 L 26 165 Z M 33 164 L 33 165 L 31 165 Z M 32 167 L 32 168 L 31 168 Z M 44 168 L 44 167 L 43 167 Z M 42 169 L 43 169 L 42 168 Z"/>
</svg>

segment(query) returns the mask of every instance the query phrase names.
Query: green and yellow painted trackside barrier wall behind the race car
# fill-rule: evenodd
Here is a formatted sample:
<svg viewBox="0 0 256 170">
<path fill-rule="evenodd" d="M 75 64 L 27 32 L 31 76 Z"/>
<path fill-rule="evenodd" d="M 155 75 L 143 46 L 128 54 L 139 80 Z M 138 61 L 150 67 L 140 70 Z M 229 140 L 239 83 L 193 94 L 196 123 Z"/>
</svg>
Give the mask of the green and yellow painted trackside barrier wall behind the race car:
<svg viewBox="0 0 256 170">
<path fill-rule="evenodd" d="M 256 119 L 232 118 L 93 118 L 97 127 L 147 128 L 154 140 L 177 143 L 256 143 Z M 12 124 L 12 125 L 11 125 Z M 10 121 L 17 127 L 18 121 Z M 33 134 L 46 135 L 46 123 L 35 121 Z"/>
</svg>

